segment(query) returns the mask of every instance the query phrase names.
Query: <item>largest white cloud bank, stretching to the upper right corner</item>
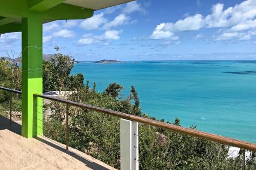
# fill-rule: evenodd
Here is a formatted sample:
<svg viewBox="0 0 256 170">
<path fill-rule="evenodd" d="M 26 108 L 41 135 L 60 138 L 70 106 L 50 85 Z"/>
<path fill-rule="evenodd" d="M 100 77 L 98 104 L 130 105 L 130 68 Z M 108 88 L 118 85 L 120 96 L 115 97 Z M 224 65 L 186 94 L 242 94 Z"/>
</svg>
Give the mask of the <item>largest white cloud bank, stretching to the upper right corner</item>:
<svg viewBox="0 0 256 170">
<path fill-rule="evenodd" d="M 186 16 L 176 22 L 161 23 L 153 31 L 151 38 L 168 38 L 175 32 L 193 31 L 201 28 L 225 28 L 229 29 L 229 32 L 222 33 L 217 39 L 223 40 L 233 37 L 239 40 L 247 40 L 253 34 L 238 32 L 256 28 L 255 17 L 255 0 L 247 0 L 227 9 L 224 9 L 224 4 L 216 4 L 212 6 L 211 13 L 205 17 L 202 14 L 195 14 Z"/>
</svg>

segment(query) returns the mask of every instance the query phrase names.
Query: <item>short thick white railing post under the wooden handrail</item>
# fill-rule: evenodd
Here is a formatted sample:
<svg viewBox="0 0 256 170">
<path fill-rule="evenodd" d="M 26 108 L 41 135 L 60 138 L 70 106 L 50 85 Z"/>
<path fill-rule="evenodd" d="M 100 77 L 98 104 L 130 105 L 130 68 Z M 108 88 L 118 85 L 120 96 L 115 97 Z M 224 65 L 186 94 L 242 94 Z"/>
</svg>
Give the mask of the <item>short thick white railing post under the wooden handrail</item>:
<svg viewBox="0 0 256 170">
<path fill-rule="evenodd" d="M 121 170 L 139 169 L 139 136 L 138 123 L 131 120 L 120 120 Z"/>
</svg>

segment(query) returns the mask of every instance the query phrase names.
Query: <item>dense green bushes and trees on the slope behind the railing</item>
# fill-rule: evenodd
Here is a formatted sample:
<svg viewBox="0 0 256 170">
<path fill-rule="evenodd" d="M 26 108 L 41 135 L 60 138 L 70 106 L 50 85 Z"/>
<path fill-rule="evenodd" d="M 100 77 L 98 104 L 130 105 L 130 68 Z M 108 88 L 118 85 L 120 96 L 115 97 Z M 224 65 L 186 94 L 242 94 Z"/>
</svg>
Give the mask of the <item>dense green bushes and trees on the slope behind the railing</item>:
<svg viewBox="0 0 256 170">
<path fill-rule="evenodd" d="M 83 83 L 82 74 L 70 75 L 74 65 L 72 60 L 70 56 L 56 54 L 53 59 L 44 61 L 44 92 L 68 90 L 72 91 L 71 95 L 67 95 L 69 100 L 155 119 L 142 113 L 135 86 L 131 87 L 130 95 L 126 98 L 121 95 L 124 87 L 117 83 L 111 83 L 103 92 L 96 92 L 95 82 L 91 88 L 89 81 Z M 20 74 L 17 65 L 0 60 L 0 86 L 20 89 Z M 15 77 L 17 75 L 19 78 Z M 2 113 L 7 109 L 7 100 L 8 93 L 0 91 Z M 18 97 L 15 100 L 20 101 Z M 65 105 L 52 102 L 44 109 L 54 111 L 44 117 L 44 135 L 65 143 Z M 180 126 L 180 120 L 176 118 L 170 124 Z M 71 107 L 69 128 L 72 148 L 116 168 L 120 167 L 118 117 Z M 232 158 L 228 150 L 229 147 L 223 144 L 139 124 L 140 169 L 242 169 L 242 152 Z M 246 169 L 256 169 L 255 153 L 251 152 L 247 158 Z"/>
</svg>

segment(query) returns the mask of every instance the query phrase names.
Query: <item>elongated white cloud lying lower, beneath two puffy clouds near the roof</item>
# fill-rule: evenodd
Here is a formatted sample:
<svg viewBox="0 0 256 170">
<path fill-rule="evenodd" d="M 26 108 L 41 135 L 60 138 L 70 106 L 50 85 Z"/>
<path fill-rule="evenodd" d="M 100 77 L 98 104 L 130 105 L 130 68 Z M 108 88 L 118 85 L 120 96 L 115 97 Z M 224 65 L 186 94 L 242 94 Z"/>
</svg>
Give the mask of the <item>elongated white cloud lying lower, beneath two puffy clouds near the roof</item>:
<svg viewBox="0 0 256 170">
<path fill-rule="evenodd" d="M 84 34 L 82 38 L 80 38 L 77 43 L 86 45 L 86 44 L 93 44 L 99 43 L 101 41 L 111 41 L 111 40 L 119 40 L 119 34 L 122 31 L 117 30 L 109 30 L 105 31 L 102 35 L 94 36 L 93 34 Z M 109 42 L 104 42 L 104 45 L 108 45 Z"/>
</svg>

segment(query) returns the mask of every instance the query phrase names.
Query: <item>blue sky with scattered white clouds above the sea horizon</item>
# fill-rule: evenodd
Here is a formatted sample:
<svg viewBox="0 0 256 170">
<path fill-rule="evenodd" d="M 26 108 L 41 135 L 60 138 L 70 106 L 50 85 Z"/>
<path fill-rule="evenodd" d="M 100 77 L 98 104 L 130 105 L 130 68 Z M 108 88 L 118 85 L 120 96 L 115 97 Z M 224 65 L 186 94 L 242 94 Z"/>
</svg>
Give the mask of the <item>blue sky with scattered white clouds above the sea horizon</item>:
<svg viewBox="0 0 256 170">
<path fill-rule="evenodd" d="M 85 20 L 43 26 L 54 46 L 76 60 L 255 60 L 256 0 L 138 0 Z M 20 33 L 0 37 L 0 56 L 20 53 Z"/>
</svg>

